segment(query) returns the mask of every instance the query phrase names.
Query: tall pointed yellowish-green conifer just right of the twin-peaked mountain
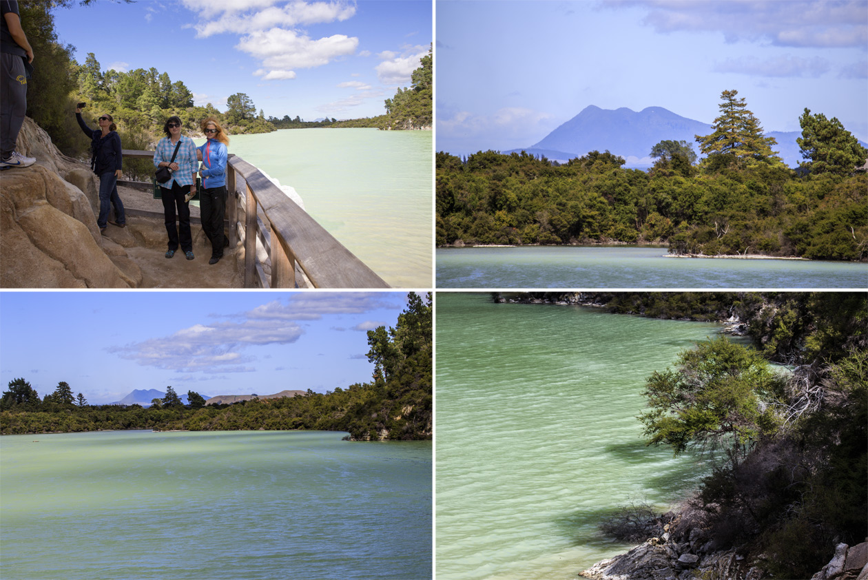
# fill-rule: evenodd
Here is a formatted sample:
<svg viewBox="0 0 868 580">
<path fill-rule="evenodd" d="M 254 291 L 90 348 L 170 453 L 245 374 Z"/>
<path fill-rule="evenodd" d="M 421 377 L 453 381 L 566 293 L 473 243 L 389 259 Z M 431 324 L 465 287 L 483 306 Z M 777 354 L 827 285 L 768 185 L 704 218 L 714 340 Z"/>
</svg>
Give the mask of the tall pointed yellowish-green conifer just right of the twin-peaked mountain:
<svg viewBox="0 0 868 580">
<path fill-rule="evenodd" d="M 759 120 L 747 109 L 744 98 L 736 98 L 737 90 L 725 90 L 720 94 L 720 115 L 714 119 L 710 135 L 695 135 L 700 151 L 714 157 L 721 165 L 742 164 L 748 160 L 780 161 L 773 151 L 777 145 L 774 137 L 762 133 Z"/>
</svg>

